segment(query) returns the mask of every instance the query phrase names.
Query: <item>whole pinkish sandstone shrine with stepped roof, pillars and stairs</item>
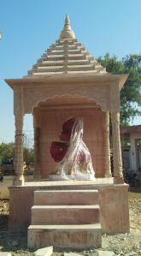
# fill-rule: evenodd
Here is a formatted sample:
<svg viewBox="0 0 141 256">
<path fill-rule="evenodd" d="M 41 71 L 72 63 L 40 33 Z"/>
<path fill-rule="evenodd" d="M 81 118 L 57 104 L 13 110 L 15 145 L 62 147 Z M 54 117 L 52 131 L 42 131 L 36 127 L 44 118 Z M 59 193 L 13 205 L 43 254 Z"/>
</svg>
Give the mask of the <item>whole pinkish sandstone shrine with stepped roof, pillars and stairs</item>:
<svg viewBox="0 0 141 256">
<path fill-rule="evenodd" d="M 55 44 L 50 45 L 50 48 L 44 52 L 28 74 L 21 79 L 6 80 L 14 90 L 15 98 L 15 182 L 9 188 L 9 227 L 12 230 L 27 229 L 32 223 L 28 230 L 29 247 L 43 246 L 44 242 L 56 247 L 92 247 L 92 245 L 99 247 L 101 245 L 99 238 L 101 233 L 99 232 L 111 234 L 129 231 L 128 186 L 123 181 L 120 151 L 120 89 L 126 78 L 126 74 L 109 74 L 94 57 L 91 57 L 85 47 L 75 38 L 67 15 L 59 39 Z M 34 126 L 35 170 L 32 182 L 24 182 L 23 174 L 22 128 L 23 118 L 27 113 L 32 113 Z M 114 177 L 111 175 L 110 168 L 109 113 L 112 121 Z M 50 174 L 56 169 L 56 163 L 50 157 L 50 144 L 58 139 L 62 123 L 69 116 L 83 118 L 84 141 L 91 152 L 96 173 L 95 181 L 50 182 L 49 180 Z M 44 190 L 44 193 L 42 191 L 44 197 L 43 195 L 38 197 L 41 190 Z M 75 193 L 75 202 L 69 201 L 68 190 Z M 91 198 L 89 193 L 92 191 L 99 194 L 99 202 L 96 200 L 96 204 L 93 201 L 89 202 L 89 196 Z M 53 193 L 55 196 L 52 196 Z M 59 193 L 61 193 L 60 199 L 58 199 Z M 83 195 L 83 198 L 87 197 L 89 207 L 85 205 L 86 201 L 82 202 L 79 199 L 81 197 L 79 193 L 88 193 Z M 49 203 L 50 196 L 52 200 Z M 37 198 L 41 198 L 42 204 Z M 64 206 L 64 201 L 68 206 L 79 205 L 79 202 L 81 206 L 85 205 L 84 209 L 80 206 L 79 208 L 72 206 L 72 222 L 70 221 L 70 207 Z M 45 213 L 43 213 L 44 207 L 38 211 L 39 206 L 36 204 L 48 205 L 44 206 L 46 207 Z M 54 208 L 52 206 L 50 209 L 50 204 Z M 55 205 L 59 205 L 60 210 Z M 95 207 L 96 205 L 98 206 Z M 66 207 L 65 210 L 64 207 Z M 79 213 L 75 212 L 74 208 L 77 208 Z M 90 209 L 86 216 L 84 211 L 88 208 Z M 56 209 L 56 213 L 53 209 Z M 44 217 L 46 221 L 43 223 L 40 219 L 43 217 L 39 216 L 42 214 L 47 216 L 47 212 L 50 212 L 51 216 L 52 211 L 56 217 L 54 216 L 50 221 Z M 58 217 L 59 214 L 62 215 L 61 218 Z M 68 214 L 68 221 L 62 220 L 63 214 L 65 216 Z M 77 214 L 81 217 L 77 217 Z M 58 218 L 57 222 L 56 218 Z M 81 224 L 79 227 L 76 219 Z M 91 223 L 93 225 L 98 223 L 100 226 L 96 228 L 91 226 Z M 47 226 L 49 224 L 52 226 Z M 60 228 L 58 228 L 59 224 Z M 65 224 L 70 224 L 69 229 Z M 56 236 L 57 241 L 54 237 L 56 234 L 50 235 L 47 232 L 48 229 L 56 229 L 55 233 L 59 234 Z M 72 231 L 73 229 L 75 231 Z M 64 230 L 65 234 L 68 234 L 68 239 L 63 236 Z M 76 236 L 79 234 L 82 239 L 73 242 L 72 232 Z M 44 238 L 43 233 L 46 234 Z M 84 234 L 87 235 L 85 241 L 83 241 Z"/>
</svg>

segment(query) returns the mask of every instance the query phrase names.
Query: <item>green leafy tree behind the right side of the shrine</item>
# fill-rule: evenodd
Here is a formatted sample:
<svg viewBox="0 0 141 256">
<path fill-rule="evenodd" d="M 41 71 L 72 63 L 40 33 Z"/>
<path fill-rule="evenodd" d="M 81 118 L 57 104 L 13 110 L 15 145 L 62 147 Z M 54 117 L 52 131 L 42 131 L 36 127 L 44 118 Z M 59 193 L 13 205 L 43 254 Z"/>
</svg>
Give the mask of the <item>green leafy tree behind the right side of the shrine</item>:
<svg viewBox="0 0 141 256">
<path fill-rule="evenodd" d="M 111 74 L 129 74 L 120 91 L 120 123 L 126 125 L 135 116 L 141 116 L 141 55 L 129 55 L 121 60 L 107 53 L 98 62 Z"/>
</svg>

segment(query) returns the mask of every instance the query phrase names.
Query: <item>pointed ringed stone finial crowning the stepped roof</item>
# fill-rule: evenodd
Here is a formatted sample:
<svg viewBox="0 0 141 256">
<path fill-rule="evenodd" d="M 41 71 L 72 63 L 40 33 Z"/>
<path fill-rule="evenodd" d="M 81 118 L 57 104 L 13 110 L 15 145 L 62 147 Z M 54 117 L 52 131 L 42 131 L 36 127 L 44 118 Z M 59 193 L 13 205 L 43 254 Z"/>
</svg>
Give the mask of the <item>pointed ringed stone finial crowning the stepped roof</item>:
<svg viewBox="0 0 141 256">
<path fill-rule="evenodd" d="M 66 15 L 65 24 L 64 24 L 64 27 L 62 29 L 62 32 L 60 34 L 59 39 L 61 39 L 61 40 L 63 40 L 63 39 L 75 39 L 75 34 L 73 33 L 73 30 L 70 26 L 70 21 L 69 21 L 68 15 Z"/>
</svg>

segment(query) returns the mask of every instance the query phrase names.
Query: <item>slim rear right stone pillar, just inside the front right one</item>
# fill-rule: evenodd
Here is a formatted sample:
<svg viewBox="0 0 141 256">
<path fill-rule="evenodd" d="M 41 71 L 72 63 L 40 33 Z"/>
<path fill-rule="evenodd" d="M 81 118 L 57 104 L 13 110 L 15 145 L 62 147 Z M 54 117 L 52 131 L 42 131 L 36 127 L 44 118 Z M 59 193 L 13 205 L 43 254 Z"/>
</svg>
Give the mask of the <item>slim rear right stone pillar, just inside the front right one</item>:
<svg viewBox="0 0 141 256">
<path fill-rule="evenodd" d="M 110 146 L 109 146 L 109 111 L 104 112 L 103 123 L 103 148 L 104 148 L 104 170 L 105 177 L 111 177 Z"/>
</svg>

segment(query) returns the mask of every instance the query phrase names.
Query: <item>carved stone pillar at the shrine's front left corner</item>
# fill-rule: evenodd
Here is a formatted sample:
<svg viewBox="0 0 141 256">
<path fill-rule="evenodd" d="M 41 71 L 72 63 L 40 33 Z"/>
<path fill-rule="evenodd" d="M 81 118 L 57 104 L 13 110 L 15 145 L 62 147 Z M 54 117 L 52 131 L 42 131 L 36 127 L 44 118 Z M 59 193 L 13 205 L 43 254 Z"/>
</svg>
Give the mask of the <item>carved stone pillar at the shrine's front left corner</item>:
<svg viewBox="0 0 141 256">
<path fill-rule="evenodd" d="M 15 89 L 15 186 L 24 184 L 23 167 L 23 92 L 22 88 Z"/>
</svg>

